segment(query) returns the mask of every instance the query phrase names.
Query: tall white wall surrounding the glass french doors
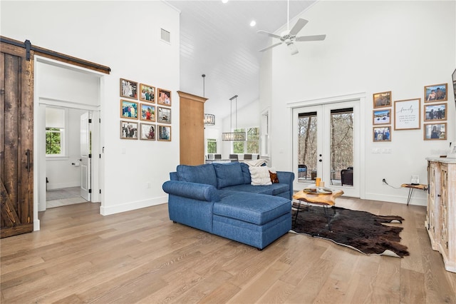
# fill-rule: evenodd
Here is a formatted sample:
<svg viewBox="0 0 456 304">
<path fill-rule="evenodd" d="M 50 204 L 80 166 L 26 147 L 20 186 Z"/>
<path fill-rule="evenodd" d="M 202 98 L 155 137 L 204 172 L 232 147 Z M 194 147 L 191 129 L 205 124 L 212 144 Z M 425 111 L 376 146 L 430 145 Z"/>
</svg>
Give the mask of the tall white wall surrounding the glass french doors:
<svg viewBox="0 0 456 304">
<path fill-rule="evenodd" d="M 325 41 L 285 46 L 271 51 L 261 73 L 261 99 L 271 93 L 271 155 L 279 170 L 293 170 L 291 111 L 287 104 L 316 98 L 365 93 L 367 128 L 363 138 L 366 163 L 364 198 L 405 203 L 407 189 L 382 185 L 386 178 L 399 187 L 418 174 L 427 182 L 427 156 L 447 150 L 456 141 L 455 101 L 448 86 L 447 141 L 423 141 L 424 86 L 451 83 L 456 67 L 455 1 L 318 1 L 301 18 L 309 24 L 300 34 L 326 34 Z M 294 21 L 292 21 L 294 22 Z M 393 101 L 421 98 L 420 130 L 392 131 L 392 141 L 373 143 L 373 93 L 392 91 Z M 392 125 L 392 128 L 394 126 Z M 390 148 L 392 153 L 372 153 Z M 284 153 L 279 153 L 284 149 Z M 363 194 L 362 194 L 363 196 Z M 425 205 L 425 192 L 413 202 Z"/>
</svg>

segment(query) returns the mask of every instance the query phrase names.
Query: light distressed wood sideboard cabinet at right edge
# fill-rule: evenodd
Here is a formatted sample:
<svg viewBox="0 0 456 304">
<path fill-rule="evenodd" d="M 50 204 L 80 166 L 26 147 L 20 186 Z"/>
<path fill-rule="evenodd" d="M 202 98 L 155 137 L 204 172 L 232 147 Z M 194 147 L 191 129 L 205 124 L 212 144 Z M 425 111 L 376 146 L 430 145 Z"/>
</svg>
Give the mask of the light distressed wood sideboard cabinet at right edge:
<svg viewBox="0 0 456 304">
<path fill-rule="evenodd" d="M 426 159 L 429 190 L 425 227 L 445 269 L 456 273 L 456 158 Z"/>
</svg>

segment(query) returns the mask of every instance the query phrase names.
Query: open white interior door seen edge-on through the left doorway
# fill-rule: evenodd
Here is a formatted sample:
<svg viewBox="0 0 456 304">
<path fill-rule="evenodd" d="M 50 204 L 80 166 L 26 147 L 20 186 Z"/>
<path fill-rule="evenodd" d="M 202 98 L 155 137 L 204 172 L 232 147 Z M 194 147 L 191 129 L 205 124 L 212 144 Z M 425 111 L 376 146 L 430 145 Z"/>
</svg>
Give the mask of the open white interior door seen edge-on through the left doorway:
<svg viewBox="0 0 456 304">
<path fill-rule="evenodd" d="M 91 201 L 90 113 L 81 115 L 81 196 Z"/>
</svg>

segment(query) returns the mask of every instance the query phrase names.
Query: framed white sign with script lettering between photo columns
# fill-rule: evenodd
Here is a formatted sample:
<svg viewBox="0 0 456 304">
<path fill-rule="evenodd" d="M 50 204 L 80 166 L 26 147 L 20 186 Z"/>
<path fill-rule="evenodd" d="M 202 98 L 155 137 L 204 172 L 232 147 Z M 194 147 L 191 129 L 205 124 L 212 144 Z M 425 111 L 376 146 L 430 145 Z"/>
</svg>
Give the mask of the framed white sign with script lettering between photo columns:
<svg viewBox="0 0 456 304">
<path fill-rule="evenodd" d="M 394 129 L 413 130 L 420 128 L 421 98 L 394 102 Z"/>
</svg>

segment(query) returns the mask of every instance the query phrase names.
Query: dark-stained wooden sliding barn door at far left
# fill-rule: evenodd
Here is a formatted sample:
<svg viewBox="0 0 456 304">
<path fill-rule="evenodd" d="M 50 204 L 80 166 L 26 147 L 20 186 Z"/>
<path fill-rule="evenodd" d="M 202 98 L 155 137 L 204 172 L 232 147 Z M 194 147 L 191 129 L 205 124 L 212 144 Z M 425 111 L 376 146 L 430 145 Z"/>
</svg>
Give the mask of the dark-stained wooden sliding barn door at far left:
<svg viewBox="0 0 456 304">
<path fill-rule="evenodd" d="M 33 52 L 0 44 L 1 238 L 33 230 Z"/>
</svg>

